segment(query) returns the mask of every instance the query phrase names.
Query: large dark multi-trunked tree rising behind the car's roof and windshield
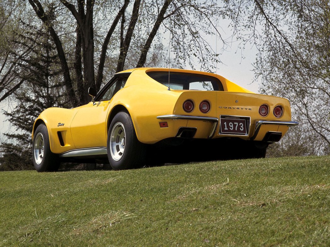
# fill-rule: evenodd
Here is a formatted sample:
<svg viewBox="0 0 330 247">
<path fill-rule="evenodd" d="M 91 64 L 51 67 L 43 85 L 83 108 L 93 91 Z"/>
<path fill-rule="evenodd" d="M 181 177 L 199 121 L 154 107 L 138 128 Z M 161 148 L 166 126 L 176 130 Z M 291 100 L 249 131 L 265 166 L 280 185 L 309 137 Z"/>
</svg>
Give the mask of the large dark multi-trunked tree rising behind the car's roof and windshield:
<svg viewBox="0 0 330 247">
<path fill-rule="evenodd" d="M 96 50 L 94 44 L 94 22 L 96 19 L 94 17 L 94 9 L 97 4 L 105 7 L 106 3 L 86 0 L 77 1 L 77 5 L 73 5 L 66 0 L 61 0 L 62 5 L 67 8 L 71 16 L 73 16 L 77 22 L 75 29 L 76 44 L 73 69 L 76 81 L 73 82 L 72 72 L 70 73 L 70 68 L 68 66 L 68 56 L 65 54 L 65 49 L 56 32 L 56 27 L 53 24 L 53 14 L 55 11 L 50 11 L 50 9 L 54 8 L 54 6 L 43 5 L 39 0 L 29 0 L 29 3 L 40 20 L 48 27 L 57 47 L 66 90 L 69 97 L 73 100 L 73 105 L 83 104 L 89 100 L 87 94 L 88 87 L 95 87 L 97 90 L 101 87 L 110 40 L 119 42 L 119 47 L 116 51 L 117 54 L 119 53 L 116 67 L 117 72 L 125 68 L 127 55 L 132 48 L 132 40 L 138 41 L 135 42 L 134 45 L 141 45 L 141 55 L 139 60 L 136 61 L 136 66 L 144 66 L 151 44 L 154 42 L 154 38 L 162 24 L 164 24 L 164 29 L 168 28 L 172 33 L 172 43 L 179 47 L 178 54 L 184 50 L 186 53 L 185 56 L 193 52 L 195 56 L 197 56 L 196 54 L 198 53 L 201 57 L 208 57 L 211 58 L 211 60 L 216 60 L 211 49 L 208 49 L 210 46 L 208 46 L 202 37 L 202 33 L 198 30 L 201 27 L 205 27 L 204 30 L 208 30 L 208 26 L 212 25 L 213 16 L 219 14 L 219 8 L 217 8 L 212 0 L 202 3 L 197 0 L 135 0 L 132 5 L 130 5 L 129 0 L 119 1 L 117 5 L 113 5 L 116 6 L 117 11 L 115 15 L 110 18 L 111 25 L 108 26 L 108 31 L 102 42 L 100 54 L 97 56 L 97 59 L 95 59 Z M 45 8 L 48 8 L 48 10 L 45 11 Z M 63 12 L 63 14 L 69 13 Z M 164 21 L 171 16 L 173 16 L 173 26 L 164 23 Z M 196 19 L 196 17 L 198 18 Z M 126 22 L 127 19 L 129 19 L 129 21 Z M 203 21 L 200 21 L 202 19 Z M 149 22 L 146 22 L 146 20 L 149 20 Z M 152 21 L 151 23 L 154 22 L 151 30 L 149 28 L 150 20 Z M 138 29 L 136 28 L 137 25 L 139 26 Z M 113 37 L 114 33 L 117 35 L 116 37 Z M 180 37 L 192 38 L 190 39 L 192 42 L 184 43 Z M 197 51 L 191 50 L 192 43 L 198 47 Z M 178 56 L 178 59 L 182 58 L 183 56 Z M 95 61 L 99 62 L 96 72 L 94 72 Z M 212 64 L 212 62 L 207 61 L 205 58 L 201 61 L 205 64 Z"/>
</svg>

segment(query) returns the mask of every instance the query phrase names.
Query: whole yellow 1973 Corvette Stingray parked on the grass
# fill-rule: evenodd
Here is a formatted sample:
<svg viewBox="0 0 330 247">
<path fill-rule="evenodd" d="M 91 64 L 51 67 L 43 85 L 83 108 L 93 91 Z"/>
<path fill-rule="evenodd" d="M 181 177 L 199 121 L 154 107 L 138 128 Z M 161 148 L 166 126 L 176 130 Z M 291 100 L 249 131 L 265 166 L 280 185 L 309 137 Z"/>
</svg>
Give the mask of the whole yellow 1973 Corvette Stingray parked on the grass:
<svg viewBox="0 0 330 247">
<path fill-rule="evenodd" d="M 48 108 L 34 122 L 38 172 L 55 171 L 61 161 L 141 167 L 151 147 L 175 145 L 180 155 L 189 142 L 191 155 L 220 159 L 231 151 L 237 158 L 265 157 L 268 145 L 298 124 L 291 122 L 287 99 L 255 94 L 207 72 L 130 69 L 88 93 L 88 104 Z"/>
</svg>

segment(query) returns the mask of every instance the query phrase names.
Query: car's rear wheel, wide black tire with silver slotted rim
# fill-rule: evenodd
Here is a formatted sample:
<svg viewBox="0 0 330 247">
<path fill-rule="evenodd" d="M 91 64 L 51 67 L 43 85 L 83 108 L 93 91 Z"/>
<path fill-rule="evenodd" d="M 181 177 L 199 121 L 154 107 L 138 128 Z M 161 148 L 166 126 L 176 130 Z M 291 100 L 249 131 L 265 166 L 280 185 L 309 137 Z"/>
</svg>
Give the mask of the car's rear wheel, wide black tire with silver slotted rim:
<svg viewBox="0 0 330 247">
<path fill-rule="evenodd" d="M 145 165 L 145 144 L 136 137 L 131 117 L 118 112 L 108 131 L 108 158 L 112 169 L 140 168 Z"/>
</svg>

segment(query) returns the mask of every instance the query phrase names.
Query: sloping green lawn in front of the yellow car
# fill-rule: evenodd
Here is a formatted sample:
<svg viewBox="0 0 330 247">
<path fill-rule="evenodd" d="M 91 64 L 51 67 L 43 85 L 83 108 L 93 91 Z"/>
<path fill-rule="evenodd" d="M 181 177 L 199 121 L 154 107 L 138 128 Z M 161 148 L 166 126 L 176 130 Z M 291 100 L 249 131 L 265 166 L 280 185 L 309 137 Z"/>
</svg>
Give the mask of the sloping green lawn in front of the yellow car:
<svg viewBox="0 0 330 247">
<path fill-rule="evenodd" d="M 330 245 L 330 156 L 0 173 L 0 245 Z"/>
</svg>

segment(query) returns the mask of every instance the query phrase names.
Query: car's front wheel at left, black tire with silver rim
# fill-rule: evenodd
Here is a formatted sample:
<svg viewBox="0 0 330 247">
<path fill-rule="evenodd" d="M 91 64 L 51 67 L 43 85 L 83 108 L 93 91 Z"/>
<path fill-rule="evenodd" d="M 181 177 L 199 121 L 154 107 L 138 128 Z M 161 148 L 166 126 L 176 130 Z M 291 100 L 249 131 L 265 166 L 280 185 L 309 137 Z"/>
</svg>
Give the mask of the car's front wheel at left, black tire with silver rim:
<svg viewBox="0 0 330 247">
<path fill-rule="evenodd" d="M 40 124 L 33 136 L 33 164 L 37 172 L 57 171 L 60 165 L 58 155 L 50 151 L 49 135 L 45 124 Z"/>
</svg>

